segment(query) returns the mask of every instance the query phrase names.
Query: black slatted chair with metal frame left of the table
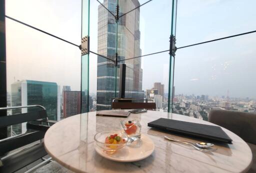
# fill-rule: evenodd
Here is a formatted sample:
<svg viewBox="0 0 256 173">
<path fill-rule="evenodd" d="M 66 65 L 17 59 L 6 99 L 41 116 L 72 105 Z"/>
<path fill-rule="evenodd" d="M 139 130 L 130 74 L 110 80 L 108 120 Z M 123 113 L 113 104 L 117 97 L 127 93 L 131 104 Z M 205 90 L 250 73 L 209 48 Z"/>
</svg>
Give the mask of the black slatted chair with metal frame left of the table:
<svg viewBox="0 0 256 173">
<path fill-rule="evenodd" d="M 0 110 L 24 107 L 39 107 L 40 110 L 0 116 L 0 127 L 27 122 L 25 133 L 0 139 L 0 172 L 14 172 L 42 158 L 44 161 L 28 170 L 31 171 L 51 159 L 51 157 L 47 159 L 43 158 L 43 156 L 47 155 L 47 152 L 44 149 L 42 139 L 50 126 L 49 124 L 55 123 L 56 121 L 48 120 L 46 110 L 43 106 L 1 107 Z"/>
</svg>

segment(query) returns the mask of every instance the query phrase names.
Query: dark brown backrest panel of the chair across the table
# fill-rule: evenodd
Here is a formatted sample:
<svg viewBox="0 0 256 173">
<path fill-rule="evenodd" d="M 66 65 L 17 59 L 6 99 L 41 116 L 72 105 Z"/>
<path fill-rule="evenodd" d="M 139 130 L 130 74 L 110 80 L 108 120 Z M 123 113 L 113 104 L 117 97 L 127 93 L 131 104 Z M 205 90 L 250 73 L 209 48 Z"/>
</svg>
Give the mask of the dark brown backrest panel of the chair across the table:
<svg viewBox="0 0 256 173">
<path fill-rule="evenodd" d="M 112 108 L 120 108 L 120 109 L 155 109 L 155 102 L 112 102 Z"/>
</svg>

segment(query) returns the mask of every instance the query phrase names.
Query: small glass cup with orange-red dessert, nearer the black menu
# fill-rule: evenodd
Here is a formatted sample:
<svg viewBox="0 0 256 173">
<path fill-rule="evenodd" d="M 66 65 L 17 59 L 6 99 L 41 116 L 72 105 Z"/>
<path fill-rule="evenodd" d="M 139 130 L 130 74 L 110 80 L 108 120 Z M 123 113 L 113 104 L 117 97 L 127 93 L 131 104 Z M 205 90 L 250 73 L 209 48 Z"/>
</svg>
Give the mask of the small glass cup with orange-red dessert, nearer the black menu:
<svg viewBox="0 0 256 173">
<path fill-rule="evenodd" d="M 140 139 L 141 125 L 138 120 L 121 120 L 121 129 L 128 136 L 129 142 Z"/>
</svg>

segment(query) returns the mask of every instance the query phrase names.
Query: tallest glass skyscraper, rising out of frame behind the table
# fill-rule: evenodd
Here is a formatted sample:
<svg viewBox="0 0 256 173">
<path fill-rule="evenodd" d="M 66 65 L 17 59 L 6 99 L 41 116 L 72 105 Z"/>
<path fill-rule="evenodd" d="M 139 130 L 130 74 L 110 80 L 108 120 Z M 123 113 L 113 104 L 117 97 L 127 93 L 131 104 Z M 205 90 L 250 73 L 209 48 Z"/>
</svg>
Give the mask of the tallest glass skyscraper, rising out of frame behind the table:
<svg viewBox="0 0 256 173">
<path fill-rule="evenodd" d="M 102 4 L 115 13 L 116 0 L 103 0 Z M 139 6 L 138 0 L 119 0 L 119 15 Z M 125 14 L 118 21 L 117 59 L 127 59 L 141 55 L 139 8 Z M 116 23 L 101 4 L 98 5 L 98 46 L 97 53 L 114 60 L 116 46 Z M 125 97 L 143 98 L 141 59 L 121 61 L 126 64 Z M 117 70 L 117 92 L 119 87 Z M 114 63 L 101 56 L 97 58 L 97 110 L 109 109 L 115 92 Z M 118 93 L 116 94 L 116 97 Z"/>
</svg>

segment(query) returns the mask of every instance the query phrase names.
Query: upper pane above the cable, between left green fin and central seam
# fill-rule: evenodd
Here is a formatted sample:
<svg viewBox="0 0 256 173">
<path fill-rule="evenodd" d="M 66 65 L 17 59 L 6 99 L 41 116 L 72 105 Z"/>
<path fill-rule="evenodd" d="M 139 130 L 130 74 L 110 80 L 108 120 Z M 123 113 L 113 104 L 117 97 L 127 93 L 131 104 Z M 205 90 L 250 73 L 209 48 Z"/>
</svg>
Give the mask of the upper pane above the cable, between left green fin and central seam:
<svg viewBox="0 0 256 173">
<path fill-rule="evenodd" d="M 115 13 L 116 0 L 100 0 L 100 2 Z M 114 8 L 111 6 L 114 5 Z M 110 59 L 115 58 L 115 20 L 99 2 L 90 1 L 90 50 Z M 103 59 L 99 59 L 103 60 Z M 104 61 L 109 61 L 105 59 Z"/>
</svg>

